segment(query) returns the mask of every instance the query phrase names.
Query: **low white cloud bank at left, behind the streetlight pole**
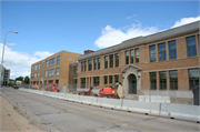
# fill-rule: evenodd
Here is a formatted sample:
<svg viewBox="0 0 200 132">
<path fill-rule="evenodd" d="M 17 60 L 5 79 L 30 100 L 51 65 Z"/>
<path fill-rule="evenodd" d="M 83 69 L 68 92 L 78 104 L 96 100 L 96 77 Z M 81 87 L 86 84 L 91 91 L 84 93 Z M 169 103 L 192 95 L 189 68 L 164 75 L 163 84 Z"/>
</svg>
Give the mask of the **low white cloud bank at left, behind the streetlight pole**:
<svg viewBox="0 0 200 132">
<path fill-rule="evenodd" d="M 2 49 L 0 43 L 0 49 Z M 17 52 L 11 50 L 8 45 L 4 47 L 4 59 L 3 67 L 11 70 L 10 78 L 17 77 L 30 77 L 31 64 L 40 61 L 52 53 L 47 51 L 37 51 L 33 55 L 26 52 Z M 0 51 L 0 59 L 2 58 L 2 51 Z"/>
</svg>

